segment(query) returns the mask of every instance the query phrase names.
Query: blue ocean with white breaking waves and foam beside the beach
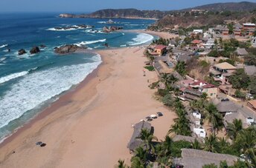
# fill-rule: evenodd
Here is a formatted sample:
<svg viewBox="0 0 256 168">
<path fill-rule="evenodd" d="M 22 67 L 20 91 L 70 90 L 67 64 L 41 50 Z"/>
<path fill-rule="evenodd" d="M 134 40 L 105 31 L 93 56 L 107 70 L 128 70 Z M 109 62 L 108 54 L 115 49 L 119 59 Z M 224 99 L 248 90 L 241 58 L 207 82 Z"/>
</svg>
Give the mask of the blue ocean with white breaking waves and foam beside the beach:
<svg viewBox="0 0 256 168">
<path fill-rule="evenodd" d="M 145 33 L 103 33 L 104 26 L 141 30 L 153 20 L 61 19 L 57 13 L 1 13 L 0 15 L 0 141 L 35 117 L 67 90 L 79 84 L 101 63 L 96 53 L 73 53 L 59 56 L 54 47 L 63 44 L 86 45 L 88 50 L 109 47 L 132 47 L 146 44 L 153 36 Z M 76 27 L 79 24 L 94 26 Z M 31 55 L 32 47 L 45 45 Z M 8 51 L 10 49 L 10 52 Z M 18 51 L 28 53 L 18 56 Z"/>
</svg>

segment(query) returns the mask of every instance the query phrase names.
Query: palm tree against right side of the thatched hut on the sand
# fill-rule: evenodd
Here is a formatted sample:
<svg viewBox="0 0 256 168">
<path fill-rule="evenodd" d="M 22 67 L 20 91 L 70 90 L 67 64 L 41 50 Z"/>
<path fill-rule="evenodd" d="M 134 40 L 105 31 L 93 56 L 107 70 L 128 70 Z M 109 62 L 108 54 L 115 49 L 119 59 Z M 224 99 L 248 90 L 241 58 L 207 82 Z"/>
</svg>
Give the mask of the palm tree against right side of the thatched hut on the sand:
<svg viewBox="0 0 256 168">
<path fill-rule="evenodd" d="M 149 130 L 147 129 L 141 130 L 141 135 L 138 138 L 140 138 L 144 142 L 144 145 L 146 146 L 149 153 L 151 152 L 151 150 L 155 152 L 155 147 L 153 146 L 153 140 L 157 141 L 157 138 Z"/>
</svg>

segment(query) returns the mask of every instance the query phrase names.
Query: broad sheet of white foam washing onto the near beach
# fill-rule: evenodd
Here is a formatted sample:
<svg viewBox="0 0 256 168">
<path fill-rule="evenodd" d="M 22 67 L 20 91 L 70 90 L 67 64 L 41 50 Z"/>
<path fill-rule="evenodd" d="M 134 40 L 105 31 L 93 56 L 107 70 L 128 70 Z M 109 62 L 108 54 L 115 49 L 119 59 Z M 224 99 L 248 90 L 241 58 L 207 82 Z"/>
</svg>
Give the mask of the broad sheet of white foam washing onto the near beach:
<svg viewBox="0 0 256 168">
<path fill-rule="evenodd" d="M 29 73 L 11 85 L 10 90 L 0 98 L 0 127 L 79 84 L 97 68 L 101 58 L 93 56 L 92 61 Z"/>
</svg>

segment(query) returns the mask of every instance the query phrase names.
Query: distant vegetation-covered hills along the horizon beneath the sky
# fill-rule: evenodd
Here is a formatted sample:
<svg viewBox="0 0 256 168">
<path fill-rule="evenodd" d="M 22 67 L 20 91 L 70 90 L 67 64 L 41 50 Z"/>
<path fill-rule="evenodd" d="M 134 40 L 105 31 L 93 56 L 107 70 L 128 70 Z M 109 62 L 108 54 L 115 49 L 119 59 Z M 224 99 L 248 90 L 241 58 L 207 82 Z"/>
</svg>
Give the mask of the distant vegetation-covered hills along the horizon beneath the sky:
<svg viewBox="0 0 256 168">
<path fill-rule="evenodd" d="M 105 10 L 97 10 L 94 13 L 89 14 L 60 14 L 60 17 L 63 18 L 140 18 L 140 19 L 163 19 L 163 21 L 167 21 L 168 16 L 179 16 L 181 13 L 186 13 L 191 10 L 205 10 L 211 12 L 219 12 L 223 13 L 223 11 L 229 12 L 248 12 L 256 9 L 256 3 L 254 2 L 229 2 L 229 3 L 217 3 L 217 4 L 206 4 L 199 7 L 188 8 L 184 10 L 169 10 L 169 11 L 160 11 L 160 10 L 136 10 L 136 9 L 105 9 Z M 195 13 L 193 13 L 195 14 Z M 179 19 L 179 17 L 178 17 Z M 183 19 L 183 18 L 181 18 Z M 191 20 L 191 18 L 184 18 L 185 22 Z M 207 19 L 207 18 L 206 18 Z M 171 21 L 173 22 L 173 21 Z M 176 22 L 176 21 L 174 21 Z M 199 21 L 200 23 L 202 21 Z M 203 23 L 202 23 L 203 24 Z"/>
</svg>

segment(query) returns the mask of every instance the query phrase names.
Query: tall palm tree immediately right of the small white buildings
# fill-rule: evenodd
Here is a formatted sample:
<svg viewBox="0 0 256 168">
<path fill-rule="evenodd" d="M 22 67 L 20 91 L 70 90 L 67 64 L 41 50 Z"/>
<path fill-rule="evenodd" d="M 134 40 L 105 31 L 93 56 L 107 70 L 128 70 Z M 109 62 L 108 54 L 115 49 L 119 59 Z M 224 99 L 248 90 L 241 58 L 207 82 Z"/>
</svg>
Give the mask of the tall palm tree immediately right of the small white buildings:
<svg viewBox="0 0 256 168">
<path fill-rule="evenodd" d="M 211 123 L 212 132 L 219 131 L 221 128 L 223 128 L 223 116 L 220 114 L 220 112 L 217 110 L 217 107 L 210 103 L 205 107 L 206 111 L 206 118 Z"/>
</svg>

